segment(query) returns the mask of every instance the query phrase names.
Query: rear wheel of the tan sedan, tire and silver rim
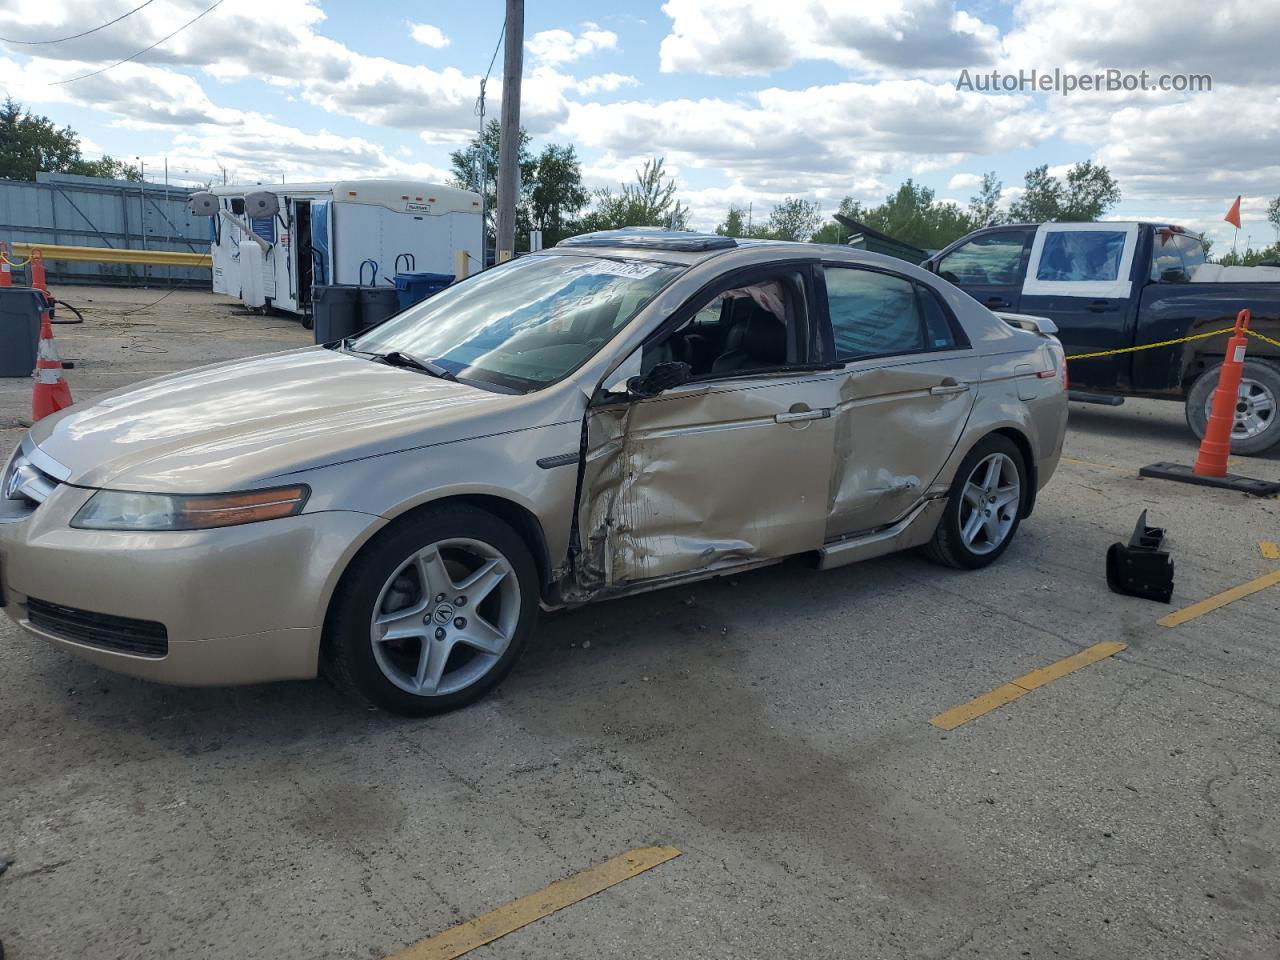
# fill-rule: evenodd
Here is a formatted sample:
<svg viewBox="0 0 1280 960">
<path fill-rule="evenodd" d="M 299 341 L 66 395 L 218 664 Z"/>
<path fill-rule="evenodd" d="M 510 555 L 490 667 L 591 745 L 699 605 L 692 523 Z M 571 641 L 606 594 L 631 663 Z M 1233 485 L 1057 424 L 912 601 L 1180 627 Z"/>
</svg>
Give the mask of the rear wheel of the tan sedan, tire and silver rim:
<svg viewBox="0 0 1280 960">
<path fill-rule="evenodd" d="M 1018 445 L 998 434 L 984 436 L 960 463 L 924 556 L 961 570 L 993 563 L 1018 532 L 1025 490 Z"/>
</svg>

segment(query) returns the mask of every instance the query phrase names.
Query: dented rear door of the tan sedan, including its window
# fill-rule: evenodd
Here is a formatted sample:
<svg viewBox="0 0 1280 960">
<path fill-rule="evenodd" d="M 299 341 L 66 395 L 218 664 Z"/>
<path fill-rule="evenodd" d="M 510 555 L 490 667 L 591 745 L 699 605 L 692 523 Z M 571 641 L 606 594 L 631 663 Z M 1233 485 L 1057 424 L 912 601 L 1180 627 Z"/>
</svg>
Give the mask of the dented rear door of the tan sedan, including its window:
<svg viewBox="0 0 1280 960">
<path fill-rule="evenodd" d="M 827 538 L 893 524 L 925 495 L 978 394 L 979 361 L 927 284 L 827 264 L 826 300 L 844 365 Z"/>
</svg>

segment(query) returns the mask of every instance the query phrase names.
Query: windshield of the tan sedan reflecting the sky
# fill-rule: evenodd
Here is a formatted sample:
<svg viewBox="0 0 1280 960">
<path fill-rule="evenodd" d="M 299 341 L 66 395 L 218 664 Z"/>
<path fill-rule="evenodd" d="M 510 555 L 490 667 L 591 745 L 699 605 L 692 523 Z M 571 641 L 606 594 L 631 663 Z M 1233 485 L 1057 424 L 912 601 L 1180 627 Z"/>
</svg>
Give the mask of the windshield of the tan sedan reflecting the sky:
<svg viewBox="0 0 1280 960">
<path fill-rule="evenodd" d="M 536 390 L 563 379 L 684 270 L 671 264 L 530 256 L 449 287 L 357 337 L 467 381 Z"/>
</svg>

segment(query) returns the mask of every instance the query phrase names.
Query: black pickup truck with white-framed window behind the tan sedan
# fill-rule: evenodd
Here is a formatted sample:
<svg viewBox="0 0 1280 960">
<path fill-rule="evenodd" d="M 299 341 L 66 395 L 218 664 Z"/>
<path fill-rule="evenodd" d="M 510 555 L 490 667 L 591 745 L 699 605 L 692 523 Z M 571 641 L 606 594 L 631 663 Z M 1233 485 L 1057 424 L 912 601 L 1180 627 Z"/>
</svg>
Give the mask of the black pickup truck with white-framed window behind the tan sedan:
<svg viewBox="0 0 1280 960">
<path fill-rule="evenodd" d="M 1137 347 L 1230 326 L 1248 307 L 1252 329 L 1280 340 L 1280 266 L 1206 264 L 1201 238 L 1172 224 L 1046 223 L 987 227 L 922 266 L 993 311 L 1047 316 L 1073 353 Z M 1226 337 L 1068 365 L 1074 399 L 1181 399 L 1204 434 Z M 1251 338 L 1231 449 L 1280 444 L 1280 347 Z"/>
</svg>

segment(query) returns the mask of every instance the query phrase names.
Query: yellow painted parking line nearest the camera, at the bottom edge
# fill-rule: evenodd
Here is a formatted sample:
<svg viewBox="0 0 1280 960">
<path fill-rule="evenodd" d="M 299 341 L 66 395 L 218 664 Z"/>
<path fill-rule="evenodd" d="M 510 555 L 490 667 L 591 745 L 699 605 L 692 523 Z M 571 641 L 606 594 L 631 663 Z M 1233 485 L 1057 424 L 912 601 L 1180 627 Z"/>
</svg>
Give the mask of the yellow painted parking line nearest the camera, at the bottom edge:
<svg viewBox="0 0 1280 960">
<path fill-rule="evenodd" d="M 398 954 L 392 954 L 387 960 L 453 960 L 453 957 L 462 956 L 479 946 L 498 940 L 498 937 L 518 931 L 521 927 L 527 927 L 534 920 L 549 916 L 579 900 L 586 900 L 614 883 L 630 879 L 676 856 L 680 856 L 680 851 L 673 846 L 641 846 L 628 850 L 589 870 L 556 881 L 536 893 L 513 900 L 506 906 L 476 916 L 474 920 L 460 923 L 444 933 L 404 947 Z"/>
</svg>

